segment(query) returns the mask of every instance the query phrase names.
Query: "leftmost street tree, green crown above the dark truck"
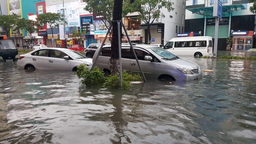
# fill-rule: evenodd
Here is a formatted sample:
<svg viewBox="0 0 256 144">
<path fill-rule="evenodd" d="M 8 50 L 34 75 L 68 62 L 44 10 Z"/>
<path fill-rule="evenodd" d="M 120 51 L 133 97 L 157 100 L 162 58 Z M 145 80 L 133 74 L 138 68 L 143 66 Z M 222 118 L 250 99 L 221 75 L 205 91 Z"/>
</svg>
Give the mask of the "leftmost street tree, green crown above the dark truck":
<svg viewBox="0 0 256 144">
<path fill-rule="evenodd" d="M 0 27 L 6 32 L 8 38 L 10 31 L 16 28 L 19 19 L 20 16 L 14 13 L 12 15 L 0 15 Z"/>
</svg>

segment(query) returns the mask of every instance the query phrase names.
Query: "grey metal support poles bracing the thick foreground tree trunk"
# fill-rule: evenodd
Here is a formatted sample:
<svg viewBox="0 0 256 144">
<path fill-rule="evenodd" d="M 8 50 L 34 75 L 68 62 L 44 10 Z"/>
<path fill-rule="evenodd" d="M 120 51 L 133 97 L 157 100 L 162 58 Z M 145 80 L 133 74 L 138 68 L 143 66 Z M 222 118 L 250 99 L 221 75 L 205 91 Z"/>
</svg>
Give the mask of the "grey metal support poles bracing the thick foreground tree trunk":
<svg viewBox="0 0 256 144">
<path fill-rule="evenodd" d="M 118 26 L 118 48 L 119 48 L 120 85 L 121 85 L 121 87 L 122 87 L 122 85 L 123 85 L 123 77 L 122 77 L 121 42 L 120 42 L 120 41 L 121 41 L 121 39 L 120 39 L 120 23 L 122 22 L 122 20 L 115 20 L 115 21 L 112 21 L 112 23 L 113 23 L 113 22 L 117 22 L 117 26 Z M 110 26 L 109 26 L 108 32 L 106 33 L 106 36 L 105 36 L 105 38 L 104 38 L 104 40 L 103 40 L 103 42 L 102 42 L 102 44 L 101 44 L 101 46 L 100 46 L 99 52 L 98 52 L 97 55 L 96 55 L 95 61 L 94 61 L 94 63 L 93 63 L 93 66 L 91 66 L 91 70 L 90 70 L 90 71 L 92 71 L 93 68 L 95 67 L 96 61 L 98 60 L 98 57 L 99 57 L 99 55 L 100 55 L 100 52 L 102 51 L 103 45 L 105 44 L 105 41 L 106 41 L 106 39 L 107 39 L 107 37 L 108 37 L 108 34 L 109 34 L 109 32 L 110 32 L 110 29 L 111 29 L 111 27 L 112 27 L 112 23 L 111 23 Z M 135 59 L 136 59 L 136 61 L 137 61 L 137 63 L 138 63 L 138 66 L 139 66 L 139 68 L 140 68 L 141 74 L 142 74 L 144 80 L 146 81 L 145 75 L 144 75 L 144 73 L 143 73 L 143 71 L 142 71 L 142 69 L 141 69 L 141 67 L 140 67 L 139 60 L 138 60 L 138 58 L 137 58 L 137 56 L 136 56 L 136 53 L 135 53 L 135 51 L 134 51 L 134 49 L 133 49 L 133 46 L 132 46 L 132 44 L 131 44 L 130 38 L 129 38 L 128 34 L 127 34 L 127 31 L 126 31 L 126 29 L 125 29 L 125 27 L 124 27 L 123 22 L 122 22 L 122 25 L 123 25 L 123 28 L 124 28 L 124 30 L 125 30 L 125 34 L 127 35 L 127 39 L 128 39 L 129 44 L 130 44 L 130 46 L 131 46 L 132 52 L 133 52 L 133 54 L 134 54 L 134 57 L 135 57 Z"/>
</svg>

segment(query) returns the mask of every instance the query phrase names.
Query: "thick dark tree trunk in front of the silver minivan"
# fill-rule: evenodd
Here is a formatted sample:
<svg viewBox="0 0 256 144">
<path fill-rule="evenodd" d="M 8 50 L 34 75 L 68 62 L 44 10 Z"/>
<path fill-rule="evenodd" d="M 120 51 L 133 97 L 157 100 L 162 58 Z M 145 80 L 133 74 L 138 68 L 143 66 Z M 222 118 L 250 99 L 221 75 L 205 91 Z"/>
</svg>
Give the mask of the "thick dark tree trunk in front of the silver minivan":
<svg viewBox="0 0 256 144">
<path fill-rule="evenodd" d="M 122 20 L 123 0 L 114 0 L 113 20 Z M 117 22 L 112 22 L 112 42 L 111 42 L 111 58 L 110 72 L 112 75 L 120 73 L 119 50 L 118 50 L 118 27 Z M 120 24 L 120 37 L 122 37 L 122 25 Z M 122 41 L 122 38 L 120 38 Z"/>
</svg>

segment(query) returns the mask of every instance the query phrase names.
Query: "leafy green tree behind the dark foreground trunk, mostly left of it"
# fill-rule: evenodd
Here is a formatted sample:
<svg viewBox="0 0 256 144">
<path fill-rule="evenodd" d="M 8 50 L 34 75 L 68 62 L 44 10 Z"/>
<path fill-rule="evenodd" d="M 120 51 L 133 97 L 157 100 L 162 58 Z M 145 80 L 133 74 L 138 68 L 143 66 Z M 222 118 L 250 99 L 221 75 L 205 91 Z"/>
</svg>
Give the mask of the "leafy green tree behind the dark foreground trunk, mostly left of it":
<svg viewBox="0 0 256 144">
<path fill-rule="evenodd" d="M 84 10 L 89 13 L 96 13 L 96 15 L 101 18 L 106 28 L 109 29 L 106 23 L 112 23 L 114 0 L 83 0 L 83 2 L 87 3 Z M 129 0 L 124 0 L 124 5 L 127 5 L 127 3 L 129 3 Z M 123 8 L 123 16 L 128 14 L 125 8 Z"/>
</svg>

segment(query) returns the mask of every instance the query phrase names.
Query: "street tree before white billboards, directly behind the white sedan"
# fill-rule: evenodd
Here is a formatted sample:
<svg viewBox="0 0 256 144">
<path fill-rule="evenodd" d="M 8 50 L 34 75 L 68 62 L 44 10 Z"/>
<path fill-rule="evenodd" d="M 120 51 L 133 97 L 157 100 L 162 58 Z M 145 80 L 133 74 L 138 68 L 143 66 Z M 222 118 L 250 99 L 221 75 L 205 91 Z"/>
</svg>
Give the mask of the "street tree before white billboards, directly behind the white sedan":
<svg viewBox="0 0 256 144">
<path fill-rule="evenodd" d="M 44 13 L 40 14 L 37 17 L 39 24 L 44 25 L 47 24 L 52 30 L 52 38 L 53 38 L 53 29 L 59 27 L 59 23 L 64 20 L 63 14 L 60 13 Z M 54 45 L 54 42 L 53 42 Z"/>
</svg>

